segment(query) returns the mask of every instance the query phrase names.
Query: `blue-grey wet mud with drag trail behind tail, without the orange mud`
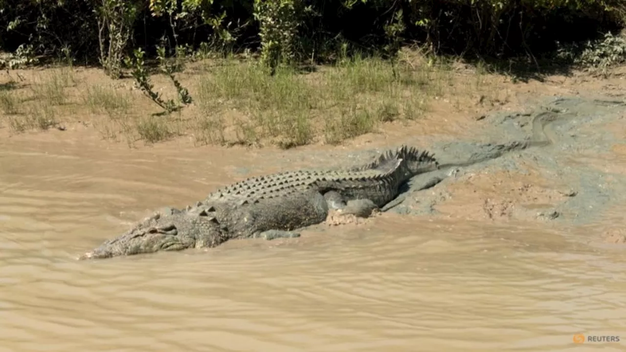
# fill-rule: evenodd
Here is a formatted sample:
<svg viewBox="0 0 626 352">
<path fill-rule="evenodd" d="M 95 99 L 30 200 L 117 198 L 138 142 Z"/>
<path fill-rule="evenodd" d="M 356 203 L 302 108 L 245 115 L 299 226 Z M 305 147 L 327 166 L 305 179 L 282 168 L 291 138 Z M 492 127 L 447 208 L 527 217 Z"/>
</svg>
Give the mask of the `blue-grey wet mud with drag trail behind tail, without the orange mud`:
<svg viewBox="0 0 626 352">
<path fill-rule="evenodd" d="M 448 198 L 446 188 L 459 176 L 477 171 L 525 174 L 527 170 L 522 166 L 523 162 L 532 165 L 544 178 L 557 180 L 570 189 L 562 203 L 538 214 L 538 218 L 571 224 L 597 221 L 608 206 L 626 204 L 626 178 L 572 161 L 608 153 L 613 144 L 619 143 L 607 125 L 623 119 L 625 111 L 625 101 L 575 97 L 552 99 L 531 111 L 492 114 L 483 121 L 485 133 L 493 143 L 458 141 L 434 143 L 429 148 L 441 164 L 485 161 L 414 177 L 403 195 L 406 199 L 390 211 L 435 214 L 434 206 Z M 539 114 L 550 114 L 552 121 L 544 129 L 553 144 L 511 151 L 498 157 L 501 149 L 511 141 L 533 136 L 532 121 Z M 436 186 L 428 187 L 433 183 Z"/>
</svg>

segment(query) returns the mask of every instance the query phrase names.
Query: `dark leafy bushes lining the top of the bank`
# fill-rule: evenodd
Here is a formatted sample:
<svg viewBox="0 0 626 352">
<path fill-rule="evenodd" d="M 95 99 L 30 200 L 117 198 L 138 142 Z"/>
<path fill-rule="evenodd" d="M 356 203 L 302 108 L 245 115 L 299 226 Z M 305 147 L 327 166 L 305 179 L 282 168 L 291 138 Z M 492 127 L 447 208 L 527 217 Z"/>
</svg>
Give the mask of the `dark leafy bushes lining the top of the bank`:
<svg viewBox="0 0 626 352">
<path fill-rule="evenodd" d="M 356 51 L 393 58 L 407 41 L 439 53 L 534 58 L 625 19 L 623 0 L 2 0 L 0 45 L 99 61 L 115 78 L 124 56 L 140 47 L 154 57 L 163 39 L 168 54 L 202 43 L 260 48 L 273 70 Z"/>
</svg>

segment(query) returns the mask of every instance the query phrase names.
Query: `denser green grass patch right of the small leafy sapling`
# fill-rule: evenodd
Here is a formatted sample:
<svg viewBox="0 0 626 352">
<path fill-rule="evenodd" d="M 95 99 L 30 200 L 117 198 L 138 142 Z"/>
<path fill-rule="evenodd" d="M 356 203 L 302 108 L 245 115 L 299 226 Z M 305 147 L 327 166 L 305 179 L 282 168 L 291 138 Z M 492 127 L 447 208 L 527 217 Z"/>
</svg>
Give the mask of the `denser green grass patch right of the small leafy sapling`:
<svg viewBox="0 0 626 352">
<path fill-rule="evenodd" d="M 199 79 L 197 139 L 228 143 L 224 131 L 230 122 L 235 129 L 230 143 L 336 144 L 375 132 L 381 123 L 419 118 L 446 77 L 441 68 L 396 71 L 394 76 L 382 59 L 357 57 L 318 73 L 282 69 L 268 76 L 254 61 L 226 61 Z M 225 121 L 227 113 L 238 118 Z"/>
</svg>

